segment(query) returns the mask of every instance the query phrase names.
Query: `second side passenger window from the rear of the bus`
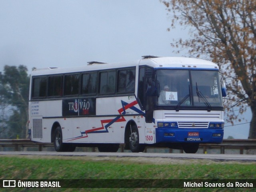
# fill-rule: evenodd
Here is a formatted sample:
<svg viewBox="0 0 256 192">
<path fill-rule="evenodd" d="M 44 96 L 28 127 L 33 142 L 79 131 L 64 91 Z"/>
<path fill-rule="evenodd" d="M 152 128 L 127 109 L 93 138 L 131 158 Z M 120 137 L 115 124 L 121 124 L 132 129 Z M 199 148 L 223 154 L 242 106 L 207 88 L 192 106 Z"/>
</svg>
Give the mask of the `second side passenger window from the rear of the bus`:
<svg viewBox="0 0 256 192">
<path fill-rule="evenodd" d="M 62 96 L 62 76 L 48 78 L 48 96 Z"/>
</svg>

